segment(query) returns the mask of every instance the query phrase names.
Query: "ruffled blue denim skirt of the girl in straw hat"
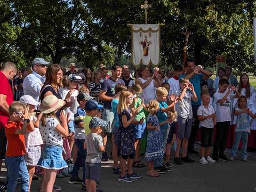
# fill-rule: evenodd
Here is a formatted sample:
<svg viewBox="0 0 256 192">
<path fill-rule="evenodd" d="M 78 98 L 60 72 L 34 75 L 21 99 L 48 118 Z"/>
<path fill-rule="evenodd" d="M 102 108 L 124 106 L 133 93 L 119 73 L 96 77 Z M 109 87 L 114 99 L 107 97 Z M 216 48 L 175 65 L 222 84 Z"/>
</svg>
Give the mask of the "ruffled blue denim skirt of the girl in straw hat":
<svg viewBox="0 0 256 192">
<path fill-rule="evenodd" d="M 67 167 L 68 165 L 62 157 L 62 146 L 44 145 L 37 166 L 54 170 Z"/>
</svg>

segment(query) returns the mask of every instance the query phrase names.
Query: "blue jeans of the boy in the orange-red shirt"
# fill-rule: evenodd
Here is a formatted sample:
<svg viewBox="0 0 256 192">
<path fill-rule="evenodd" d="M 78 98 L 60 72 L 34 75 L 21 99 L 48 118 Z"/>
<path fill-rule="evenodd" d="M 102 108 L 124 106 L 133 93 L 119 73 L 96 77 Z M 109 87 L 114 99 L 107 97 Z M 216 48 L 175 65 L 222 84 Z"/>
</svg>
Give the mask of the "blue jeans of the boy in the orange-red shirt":
<svg viewBox="0 0 256 192">
<path fill-rule="evenodd" d="M 8 167 L 8 192 L 14 192 L 17 186 L 18 178 L 21 179 L 20 191 L 28 191 L 29 175 L 24 156 L 5 157 L 5 163 Z"/>
</svg>

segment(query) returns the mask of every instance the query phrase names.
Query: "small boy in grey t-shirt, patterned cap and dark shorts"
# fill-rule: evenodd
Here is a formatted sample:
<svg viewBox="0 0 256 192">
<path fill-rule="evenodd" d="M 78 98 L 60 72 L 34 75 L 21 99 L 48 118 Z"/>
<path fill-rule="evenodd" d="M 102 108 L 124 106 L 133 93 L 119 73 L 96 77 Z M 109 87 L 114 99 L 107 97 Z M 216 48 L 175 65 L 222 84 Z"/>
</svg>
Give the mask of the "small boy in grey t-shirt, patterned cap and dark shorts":
<svg viewBox="0 0 256 192">
<path fill-rule="evenodd" d="M 96 192 L 96 184 L 100 180 L 101 153 L 105 150 L 100 133 L 102 127 L 107 125 L 107 121 L 103 121 L 97 116 L 93 117 L 89 124 L 91 133 L 85 137 L 84 148 L 87 149 L 85 182 L 86 189 L 90 192 Z"/>
</svg>

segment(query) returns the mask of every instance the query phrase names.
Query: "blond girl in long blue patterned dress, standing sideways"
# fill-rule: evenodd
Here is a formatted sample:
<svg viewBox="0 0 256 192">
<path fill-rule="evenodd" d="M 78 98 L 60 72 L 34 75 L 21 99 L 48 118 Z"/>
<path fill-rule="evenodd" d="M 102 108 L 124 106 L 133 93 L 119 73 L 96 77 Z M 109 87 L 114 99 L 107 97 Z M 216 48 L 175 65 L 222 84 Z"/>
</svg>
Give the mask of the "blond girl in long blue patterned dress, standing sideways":
<svg viewBox="0 0 256 192">
<path fill-rule="evenodd" d="M 148 139 L 147 148 L 145 153 L 145 160 L 147 161 L 147 175 L 149 177 L 158 177 L 159 172 L 154 170 L 154 160 L 163 158 L 163 142 L 162 134 L 160 131 L 160 125 L 156 112 L 159 110 L 159 104 L 157 100 L 151 100 L 148 106 Z"/>
</svg>

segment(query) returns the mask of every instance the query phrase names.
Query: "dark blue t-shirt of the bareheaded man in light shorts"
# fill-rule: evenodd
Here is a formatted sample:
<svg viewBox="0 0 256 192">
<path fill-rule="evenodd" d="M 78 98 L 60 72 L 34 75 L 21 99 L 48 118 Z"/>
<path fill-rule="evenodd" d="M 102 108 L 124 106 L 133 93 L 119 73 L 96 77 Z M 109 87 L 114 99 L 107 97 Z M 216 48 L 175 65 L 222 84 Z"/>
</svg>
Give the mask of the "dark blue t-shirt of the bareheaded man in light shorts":
<svg viewBox="0 0 256 192">
<path fill-rule="evenodd" d="M 108 97 L 115 97 L 115 87 L 116 84 L 121 83 L 125 85 L 123 79 L 117 78 L 116 81 L 114 81 L 111 77 L 106 79 L 100 87 L 100 90 L 106 91 L 105 95 Z M 111 109 L 111 101 L 102 101 L 103 106 L 105 109 Z"/>
</svg>

